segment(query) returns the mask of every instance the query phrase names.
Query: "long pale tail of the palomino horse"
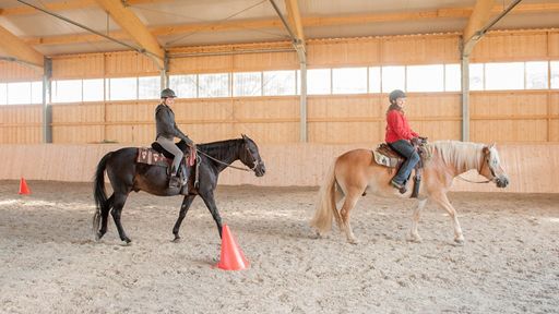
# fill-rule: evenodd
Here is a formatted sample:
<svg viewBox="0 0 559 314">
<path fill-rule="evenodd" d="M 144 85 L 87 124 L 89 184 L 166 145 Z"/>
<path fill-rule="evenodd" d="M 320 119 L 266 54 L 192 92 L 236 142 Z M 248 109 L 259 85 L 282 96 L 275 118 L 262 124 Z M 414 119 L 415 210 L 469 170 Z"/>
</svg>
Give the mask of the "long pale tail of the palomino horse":
<svg viewBox="0 0 559 314">
<path fill-rule="evenodd" d="M 325 233 L 332 230 L 332 218 L 336 219 L 337 226 L 342 224 L 342 218 L 336 208 L 336 178 L 335 178 L 335 165 L 334 161 L 330 167 L 326 178 L 319 191 L 319 200 L 317 202 L 314 217 L 312 218 L 310 226 L 314 227 L 319 233 Z"/>
</svg>

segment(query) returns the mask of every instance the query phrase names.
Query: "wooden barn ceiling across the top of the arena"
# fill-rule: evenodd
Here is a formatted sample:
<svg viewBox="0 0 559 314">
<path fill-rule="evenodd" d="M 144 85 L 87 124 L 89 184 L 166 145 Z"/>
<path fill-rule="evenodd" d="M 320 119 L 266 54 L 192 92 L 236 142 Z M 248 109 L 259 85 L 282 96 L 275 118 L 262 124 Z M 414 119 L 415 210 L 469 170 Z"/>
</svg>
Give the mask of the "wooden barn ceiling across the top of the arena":
<svg viewBox="0 0 559 314">
<path fill-rule="evenodd" d="M 287 0 L 288 1 L 288 0 Z M 512 0 L 495 1 L 496 16 Z M 269 0 L 25 0 L 94 31 L 138 45 L 121 23 L 135 19 L 162 48 L 288 40 Z M 108 4 L 103 4 L 107 2 Z M 112 17 L 111 2 L 135 17 Z M 287 16 L 286 0 L 275 0 Z M 462 32 L 475 0 L 298 0 L 306 39 Z M 105 5 L 105 7 L 104 7 Z M 109 7 L 107 7 L 109 5 Z M 116 21 L 124 20 L 124 21 Z M 134 25 L 129 24 L 130 25 Z M 524 0 L 493 28 L 559 26 L 559 0 Z M 0 27 L 44 56 L 128 49 L 17 0 L 0 0 Z M 142 28 L 132 26 L 132 28 Z M 150 35 L 151 34 L 151 35 Z M 11 43 L 11 41 L 10 41 Z M 9 57 L 0 43 L 0 56 Z M 4 48 L 4 49 L 3 49 Z"/>
</svg>

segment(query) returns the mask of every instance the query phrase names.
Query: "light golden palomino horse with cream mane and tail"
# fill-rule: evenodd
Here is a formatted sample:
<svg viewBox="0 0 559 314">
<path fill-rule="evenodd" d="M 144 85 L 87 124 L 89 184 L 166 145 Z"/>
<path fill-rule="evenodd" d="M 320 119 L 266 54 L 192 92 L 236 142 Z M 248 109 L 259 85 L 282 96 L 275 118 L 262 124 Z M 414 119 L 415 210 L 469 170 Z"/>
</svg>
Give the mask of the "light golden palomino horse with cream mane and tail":
<svg viewBox="0 0 559 314">
<path fill-rule="evenodd" d="M 499 153 L 493 144 L 485 146 L 477 143 L 463 143 L 456 141 L 440 141 L 427 144 L 428 158 L 424 164 L 421 185 L 419 188 L 418 205 L 414 210 L 409 237 L 412 241 L 420 242 L 417 232 L 417 222 L 427 200 L 432 200 L 444 208 L 454 227 L 454 241 L 464 242 L 462 228 L 456 217 L 456 210 L 449 202 L 447 192 L 452 180 L 471 169 L 495 182 L 498 188 L 506 188 L 509 179 L 499 160 Z M 311 226 L 321 235 L 332 229 L 332 219 L 344 230 L 349 243 L 357 243 L 357 239 L 349 225 L 349 214 L 364 193 L 373 193 L 381 196 L 409 197 L 412 189 L 400 194 L 389 182 L 394 173 L 388 168 L 374 162 L 371 150 L 354 149 L 337 157 L 328 172 L 325 182 L 319 192 L 319 202 Z M 344 198 L 345 196 L 345 198 Z M 344 198 L 341 210 L 336 204 Z"/>
</svg>

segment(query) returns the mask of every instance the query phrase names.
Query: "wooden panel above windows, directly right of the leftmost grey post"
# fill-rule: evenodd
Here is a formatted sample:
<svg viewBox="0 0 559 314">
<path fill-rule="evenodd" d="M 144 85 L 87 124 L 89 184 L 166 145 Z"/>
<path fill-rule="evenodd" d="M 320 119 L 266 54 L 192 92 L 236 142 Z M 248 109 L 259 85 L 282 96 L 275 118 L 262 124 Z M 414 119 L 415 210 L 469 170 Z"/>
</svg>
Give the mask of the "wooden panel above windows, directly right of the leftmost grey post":
<svg viewBox="0 0 559 314">
<path fill-rule="evenodd" d="M 52 59 L 52 78 L 100 78 L 105 75 L 105 53 L 86 53 Z"/>
</svg>

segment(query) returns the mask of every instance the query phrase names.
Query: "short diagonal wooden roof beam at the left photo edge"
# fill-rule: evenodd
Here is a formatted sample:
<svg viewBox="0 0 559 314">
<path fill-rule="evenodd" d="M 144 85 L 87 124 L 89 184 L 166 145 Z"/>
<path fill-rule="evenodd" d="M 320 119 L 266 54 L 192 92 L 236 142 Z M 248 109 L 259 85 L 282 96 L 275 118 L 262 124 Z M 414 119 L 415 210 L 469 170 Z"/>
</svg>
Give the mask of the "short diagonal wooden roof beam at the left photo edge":
<svg viewBox="0 0 559 314">
<path fill-rule="evenodd" d="M 24 62 L 43 69 L 45 57 L 33 47 L 27 45 L 25 41 L 23 41 L 20 37 L 13 35 L 11 32 L 0 26 L 0 38 L 2 38 L 0 53 L 4 53 L 10 58 L 14 58 L 15 61 Z"/>
</svg>

